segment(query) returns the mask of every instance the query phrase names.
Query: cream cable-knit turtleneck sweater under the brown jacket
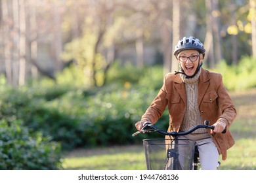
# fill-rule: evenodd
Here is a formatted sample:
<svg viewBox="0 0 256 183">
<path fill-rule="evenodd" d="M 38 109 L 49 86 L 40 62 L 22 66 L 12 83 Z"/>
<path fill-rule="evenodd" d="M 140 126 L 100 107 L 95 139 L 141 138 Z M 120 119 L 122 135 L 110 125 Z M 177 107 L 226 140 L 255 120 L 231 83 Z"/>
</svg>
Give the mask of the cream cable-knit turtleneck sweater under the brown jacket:
<svg viewBox="0 0 256 183">
<path fill-rule="evenodd" d="M 198 80 L 201 73 L 200 71 L 193 78 L 186 78 L 181 74 L 182 81 L 185 83 L 186 88 L 186 114 L 182 120 L 181 131 L 187 131 L 196 125 L 203 124 L 203 118 L 198 108 Z M 206 129 L 200 128 L 191 134 L 186 135 L 186 138 L 192 141 L 209 138 Z"/>
</svg>

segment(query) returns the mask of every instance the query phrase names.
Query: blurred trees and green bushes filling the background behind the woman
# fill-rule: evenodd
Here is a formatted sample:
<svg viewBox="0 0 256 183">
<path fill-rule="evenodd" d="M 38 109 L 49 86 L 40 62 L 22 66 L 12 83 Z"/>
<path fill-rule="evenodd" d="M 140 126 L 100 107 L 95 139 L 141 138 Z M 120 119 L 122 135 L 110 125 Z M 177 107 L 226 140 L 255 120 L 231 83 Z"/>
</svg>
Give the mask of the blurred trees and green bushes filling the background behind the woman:
<svg viewBox="0 0 256 183">
<path fill-rule="evenodd" d="M 256 0 L 0 5 L 0 169 L 61 169 L 63 154 L 77 148 L 140 143 L 148 136 L 131 137 L 134 124 L 163 76 L 179 70 L 173 48 L 190 35 L 205 46 L 203 67 L 220 72 L 238 108 L 249 112 L 249 122 L 238 116 L 244 123 L 234 134 L 251 138 L 245 124 L 256 118 Z M 167 121 L 165 114 L 159 127 Z M 227 169 L 256 166 L 250 163 Z"/>
</svg>

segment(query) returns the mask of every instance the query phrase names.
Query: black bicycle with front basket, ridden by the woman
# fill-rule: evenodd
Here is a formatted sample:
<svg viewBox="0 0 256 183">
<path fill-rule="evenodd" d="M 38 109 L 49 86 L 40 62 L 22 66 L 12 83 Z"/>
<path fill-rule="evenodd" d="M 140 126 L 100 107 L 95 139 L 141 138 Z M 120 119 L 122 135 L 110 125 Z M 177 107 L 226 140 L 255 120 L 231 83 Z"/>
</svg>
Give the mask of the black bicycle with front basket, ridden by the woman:
<svg viewBox="0 0 256 183">
<path fill-rule="evenodd" d="M 188 131 L 167 132 L 162 129 L 158 129 L 150 122 L 145 122 L 140 131 L 133 133 L 133 137 L 139 133 L 152 133 L 154 131 L 161 135 L 165 135 L 165 137 L 169 137 L 165 139 L 143 140 L 146 167 L 148 170 L 197 170 L 198 167 L 200 167 L 200 158 L 196 142 L 188 139 L 181 139 L 180 137 L 188 135 L 199 128 L 214 129 L 214 125 L 209 125 L 209 121 L 205 120 L 203 125 L 197 125 Z M 225 132 L 226 129 L 224 129 L 223 133 Z M 217 168 L 220 164 L 220 162 L 217 163 Z"/>
</svg>

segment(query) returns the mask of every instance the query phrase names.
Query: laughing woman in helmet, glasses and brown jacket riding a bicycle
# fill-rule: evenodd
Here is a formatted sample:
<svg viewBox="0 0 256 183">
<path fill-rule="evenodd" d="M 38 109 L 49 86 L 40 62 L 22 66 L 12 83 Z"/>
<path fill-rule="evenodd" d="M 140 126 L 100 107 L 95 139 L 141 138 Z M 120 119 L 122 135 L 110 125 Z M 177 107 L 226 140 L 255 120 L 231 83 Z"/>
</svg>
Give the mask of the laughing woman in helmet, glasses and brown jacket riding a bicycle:
<svg viewBox="0 0 256 183">
<path fill-rule="evenodd" d="M 221 74 L 202 68 L 205 49 L 194 37 L 184 37 L 175 46 L 175 57 L 181 70 L 165 76 L 160 92 L 135 127 L 144 122 L 156 123 L 165 108 L 169 110 L 168 131 L 187 131 L 209 120 L 214 130 L 198 129 L 187 139 L 196 142 L 202 169 L 217 169 L 219 154 L 234 145 L 229 127 L 236 117 L 236 108 L 228 95 Z M 221 133 L 226 128 L 226 133 Z"/>
</svg>

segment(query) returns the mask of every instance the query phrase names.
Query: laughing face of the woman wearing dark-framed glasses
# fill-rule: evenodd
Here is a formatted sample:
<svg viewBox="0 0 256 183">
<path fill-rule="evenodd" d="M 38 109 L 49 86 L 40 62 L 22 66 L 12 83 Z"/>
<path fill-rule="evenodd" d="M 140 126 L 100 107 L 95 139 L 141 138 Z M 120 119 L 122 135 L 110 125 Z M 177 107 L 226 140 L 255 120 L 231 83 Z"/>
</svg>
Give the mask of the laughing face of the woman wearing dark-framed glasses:
<svg viewBox="0 0 256 183">
<path fill-rule="evenodd" d="M 192 76 L 194 75 L 194 73 L 196 72 L 196 68 L 198 67 L 198 59 L 201 63 L 203 56 L 202 54 L 199 54 L 197 50 L 184 50 L 178 54 L 177 59 L 181 64 L 184 73 L 188 76 Z"/>
</svg>

